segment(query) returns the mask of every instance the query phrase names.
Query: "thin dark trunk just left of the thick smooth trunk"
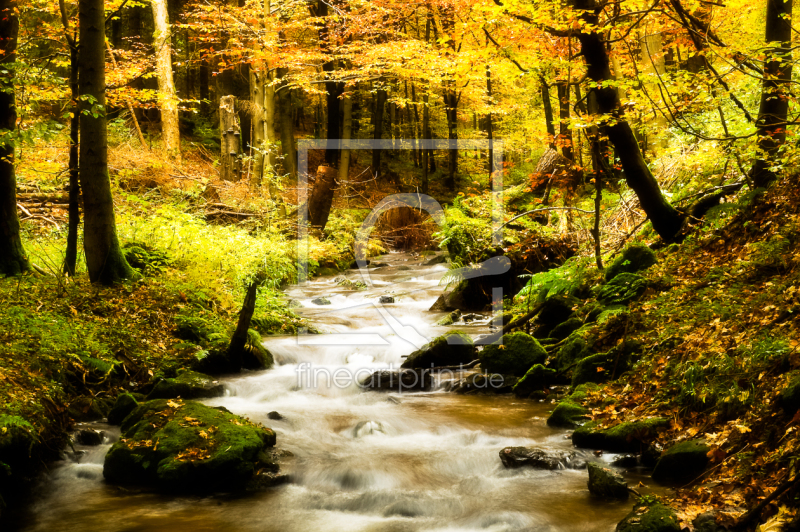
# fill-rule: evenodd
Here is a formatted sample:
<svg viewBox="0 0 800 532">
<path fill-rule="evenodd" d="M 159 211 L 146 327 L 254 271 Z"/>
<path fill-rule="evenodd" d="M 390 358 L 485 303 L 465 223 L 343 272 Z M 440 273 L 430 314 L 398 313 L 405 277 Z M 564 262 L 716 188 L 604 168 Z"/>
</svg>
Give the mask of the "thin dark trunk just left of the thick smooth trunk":
<svg viewBox="0 0 800 532">
<path fill-rule="evenodd" d="M 78 47 L 75 43 L 69 50 L 69 86 L 72 91 L 72 118 L 69 121 L 69 228 L 67 230 L 67 251 L 64 254 L 64 273 L 74 277 L 78 261 L 78 229 L 81 224 L 80 179 L 78 168 L 78 142 L 80 135 L 80 114 L 78 104 Z M 136 118 L 134 116 L 134 118 Z"/>
</svg>

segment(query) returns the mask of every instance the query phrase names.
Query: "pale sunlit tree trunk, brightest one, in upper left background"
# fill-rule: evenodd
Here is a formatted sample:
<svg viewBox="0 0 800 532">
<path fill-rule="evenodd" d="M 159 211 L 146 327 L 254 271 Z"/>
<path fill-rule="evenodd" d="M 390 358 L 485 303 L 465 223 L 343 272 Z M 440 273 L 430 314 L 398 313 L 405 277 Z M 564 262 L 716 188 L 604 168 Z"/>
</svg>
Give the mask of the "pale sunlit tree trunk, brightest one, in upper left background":
<svg viewBox="0 0 800 532">
<path fill-rule="evenodd" d="M 158 105 L 161 109 L 161 140 L 167 155 L 180 161 L 181 138 L 178 131 L 178 95 L 172 77 L 172 45 L 167 0 L 152 0 L 153 47 L 156 53 Z"/>
</svg>

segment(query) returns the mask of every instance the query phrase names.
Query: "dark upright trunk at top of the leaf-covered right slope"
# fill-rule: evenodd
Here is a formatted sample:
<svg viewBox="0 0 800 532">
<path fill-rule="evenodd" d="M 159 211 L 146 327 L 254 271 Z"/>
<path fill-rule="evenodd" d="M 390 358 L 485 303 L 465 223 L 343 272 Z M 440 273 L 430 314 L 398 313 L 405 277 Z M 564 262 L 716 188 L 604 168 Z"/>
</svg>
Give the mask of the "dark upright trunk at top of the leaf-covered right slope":
<svg viewBox="0 0 800 532">
<path fill-rule="evenodd" d="M 760 156 L 750 169 L 750 178 L 757 187 L 765 187 L 777 177 L 770 167 L 786 142 L 792 80 L 791 21 L 792 0 L 767 0 L 765 40 L 779 44 L 768 52 L 761 82 L 761 104 L 756 120 Z"/>
</svg>

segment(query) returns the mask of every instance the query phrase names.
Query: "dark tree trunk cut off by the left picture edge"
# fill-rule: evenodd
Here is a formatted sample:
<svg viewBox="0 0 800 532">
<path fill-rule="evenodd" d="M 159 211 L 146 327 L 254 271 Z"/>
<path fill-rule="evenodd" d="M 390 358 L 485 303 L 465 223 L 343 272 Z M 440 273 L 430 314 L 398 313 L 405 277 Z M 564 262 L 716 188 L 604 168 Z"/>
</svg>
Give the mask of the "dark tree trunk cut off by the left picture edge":
<svg viewBox="0 0 800 532">
<path fill-rule="evenodd" d="M 13 135 L 17 128 L 14 99 L 14 63 L 17 60 L 19 18 L 16 0 L 0 0 L 0 275 L 17 275 L 31 269 L 17 217 L 17 178 L 14 172 Z"/>
</svg>

